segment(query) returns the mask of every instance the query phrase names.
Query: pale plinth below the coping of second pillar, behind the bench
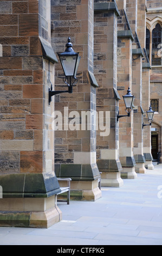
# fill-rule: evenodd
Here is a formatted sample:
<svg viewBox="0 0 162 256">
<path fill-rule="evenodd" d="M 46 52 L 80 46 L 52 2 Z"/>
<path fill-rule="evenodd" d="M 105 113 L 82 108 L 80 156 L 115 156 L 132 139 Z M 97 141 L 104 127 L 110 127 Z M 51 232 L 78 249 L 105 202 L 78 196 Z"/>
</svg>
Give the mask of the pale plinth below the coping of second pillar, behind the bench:
<svg viewBox="0 0 162 256">
<path fill-rule="evenodd" d="M 60 187 L 65 186 L 64 181 L 59 181 Z M 101 198 L 102 192 L 98 187 L 98 180 L 93 181 L 71 181 L 70 200 L 95 201 Z M 58 199 L 67 198 L 66 193 L 59 194 Z"/>
</svg>

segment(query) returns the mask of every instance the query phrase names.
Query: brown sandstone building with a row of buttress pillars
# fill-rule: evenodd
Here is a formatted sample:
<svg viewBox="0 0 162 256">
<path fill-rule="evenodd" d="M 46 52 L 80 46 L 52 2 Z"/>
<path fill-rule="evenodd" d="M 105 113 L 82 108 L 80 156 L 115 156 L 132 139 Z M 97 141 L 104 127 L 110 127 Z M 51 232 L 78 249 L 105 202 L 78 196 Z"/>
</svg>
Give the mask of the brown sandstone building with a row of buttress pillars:
<svg viewBox="0 0 162 256">
<path fill-rule="evenodd" d="M 100 178 L 120 187 L 153 169 L 161 28 L 161 0 L 0 1 L 0 225 L 59 222 L 57 178 L 72 179 L 71 200 L 89 201 L 102 197 Z M 69 37 L 77 82 L 49 102 L 49 90 L 67 90 L 58 54 Z"/>
</svg>

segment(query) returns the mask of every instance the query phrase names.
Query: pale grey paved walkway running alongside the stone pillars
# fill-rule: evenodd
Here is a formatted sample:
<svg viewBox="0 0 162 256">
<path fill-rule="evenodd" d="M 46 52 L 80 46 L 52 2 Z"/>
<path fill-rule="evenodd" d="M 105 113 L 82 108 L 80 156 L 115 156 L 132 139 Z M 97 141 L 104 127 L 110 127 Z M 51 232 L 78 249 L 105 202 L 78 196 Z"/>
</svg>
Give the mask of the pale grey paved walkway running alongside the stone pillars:
<svg viewBox="0 0 162 256">
<path fill-rule="evenodd" d="M 0 245 L 162 245 L 161 175 L 155 165 L 120 188 L 102 187 L 95 202 L 58 203 L 63 220 L 48 229 L 1 227 Z"/>
</svg>

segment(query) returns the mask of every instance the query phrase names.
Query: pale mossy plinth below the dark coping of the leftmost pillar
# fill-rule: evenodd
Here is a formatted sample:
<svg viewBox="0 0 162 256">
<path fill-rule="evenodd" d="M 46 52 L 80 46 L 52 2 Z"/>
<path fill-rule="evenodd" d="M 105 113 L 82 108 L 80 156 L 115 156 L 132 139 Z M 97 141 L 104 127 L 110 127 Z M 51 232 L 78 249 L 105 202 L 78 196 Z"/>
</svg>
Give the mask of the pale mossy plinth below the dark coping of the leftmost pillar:
<svg viewBox="0 0 162 256">
<path fill-rule="evenodd" d="M 0 199 L 0 226 L 49 228 L 62 220 L 55 196 Z"/>
</svg>

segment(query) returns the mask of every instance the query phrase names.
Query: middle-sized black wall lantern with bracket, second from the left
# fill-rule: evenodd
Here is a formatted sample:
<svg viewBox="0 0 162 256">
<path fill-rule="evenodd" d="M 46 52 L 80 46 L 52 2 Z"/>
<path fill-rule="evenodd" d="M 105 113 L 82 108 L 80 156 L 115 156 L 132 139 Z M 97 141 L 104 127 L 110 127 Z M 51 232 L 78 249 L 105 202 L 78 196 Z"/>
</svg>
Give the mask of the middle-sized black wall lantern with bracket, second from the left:
<svg viewBox="0 0 162 256">
<path fill-rule="evenodd" d="M 125 111 L 128 113 L 127 115 L 119 115 L 119 112 L 118 112 L 118 115 L 117 115 L 117 121 L 119 118 L 121 117 L 130 117 L 130 113 L 132 111 L 132 106 L 133 106 L 133 101 L 134 101 L 134 95 L 131 94 L 131 90 L 130 88 L 128 87 L 128 90 L 127 90 L 127 94 L 122 96 L 123 99 L 124 99 L 124 103 L 125 103 L 125 106 L 126 106 L 126 109 Z"/>
</svg>

